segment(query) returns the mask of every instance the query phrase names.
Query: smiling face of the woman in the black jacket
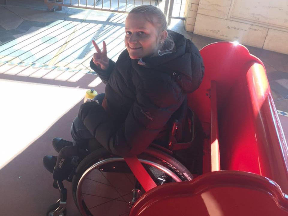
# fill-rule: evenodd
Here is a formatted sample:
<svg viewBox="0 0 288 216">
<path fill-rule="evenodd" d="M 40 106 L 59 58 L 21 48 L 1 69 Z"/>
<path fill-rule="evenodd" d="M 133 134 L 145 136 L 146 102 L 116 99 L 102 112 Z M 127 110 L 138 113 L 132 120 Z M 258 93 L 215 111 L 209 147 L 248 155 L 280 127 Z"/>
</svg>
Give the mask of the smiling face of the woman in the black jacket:
<svg viewBox="0 0 288 216">
<path fill-rule="evenodd" d="M 129 56 L 132 59 L 138 59 L 157 54 L 161 41 L 164 41 L 163 32 L 166 31 L 159 34 L 144 15 L 130 13 L 126 18 L 125 32 L 125 45 Z"/>
</svg>

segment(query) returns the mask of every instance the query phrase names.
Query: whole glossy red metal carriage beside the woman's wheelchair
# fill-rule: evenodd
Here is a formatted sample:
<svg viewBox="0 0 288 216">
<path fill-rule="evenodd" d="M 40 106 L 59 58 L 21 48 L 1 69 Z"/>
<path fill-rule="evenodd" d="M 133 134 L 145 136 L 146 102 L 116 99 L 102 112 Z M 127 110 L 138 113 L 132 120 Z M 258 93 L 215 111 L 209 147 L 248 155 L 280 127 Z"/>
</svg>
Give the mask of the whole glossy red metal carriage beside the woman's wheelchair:
<svg viewBox="0 0 288 216">
<path fill-rule="evenodd" d="M 287 143 L 262 61 L 232 42 L 200 53 L 205 76 L 188 104 L 209 134 L 203 174 L 148 184 L 129 215 L 288 215 Z"/>
</svg>

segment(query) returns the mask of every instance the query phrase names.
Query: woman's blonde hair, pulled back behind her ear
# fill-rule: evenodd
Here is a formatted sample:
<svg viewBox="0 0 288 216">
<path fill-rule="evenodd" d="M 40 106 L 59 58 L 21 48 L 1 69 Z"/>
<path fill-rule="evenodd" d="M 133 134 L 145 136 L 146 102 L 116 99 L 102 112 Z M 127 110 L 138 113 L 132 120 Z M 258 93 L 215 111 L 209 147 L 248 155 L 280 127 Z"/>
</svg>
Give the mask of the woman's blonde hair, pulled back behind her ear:
<svg viewBox="0 0 288 216">
<path fill-rule="evenodd" d="M 148 22 L 151 22 L 155 27 L 159 28 L 160 32 L 167 31 L 167 21 L 166 16 L 164 13 L 158 8 L 153 5 L 141 5 L 138 7 L 134 7 L 129 13 L 136 13 L 136 14 L 143 14 Z M 155 19 L 157 22 L 155 22 Z M 157 25 L 157 26 L 156 26 Z M 172 36 L 168 33 L 167 38 L 163 42 L 161 50 L 169 50 L 174 48 L 174 41 Z"/>
</svg>

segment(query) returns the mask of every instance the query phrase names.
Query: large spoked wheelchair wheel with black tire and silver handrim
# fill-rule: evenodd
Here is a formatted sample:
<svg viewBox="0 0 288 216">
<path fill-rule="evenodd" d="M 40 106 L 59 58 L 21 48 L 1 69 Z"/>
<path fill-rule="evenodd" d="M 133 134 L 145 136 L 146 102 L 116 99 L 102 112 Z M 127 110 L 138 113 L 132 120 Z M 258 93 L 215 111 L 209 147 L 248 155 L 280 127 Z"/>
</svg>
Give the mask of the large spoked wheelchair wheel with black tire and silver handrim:
<svg viewBox="0 0 288 216">
<path fill-rule="evenodd" d="M 193 179 L 180 162 L 156 149 L 148 148 L 138 155 L 138 159 L 157 185 Z M 137 188 L 137 184 L 124 158 L 111 155 L 106 149 L 98 149 L 77 167 L 72 193 L 82 216 L 128 216 L 129 203 L 133 197 L 135 201 L 135 191 L 138 194 L 145 192 Z"/>
</svg>

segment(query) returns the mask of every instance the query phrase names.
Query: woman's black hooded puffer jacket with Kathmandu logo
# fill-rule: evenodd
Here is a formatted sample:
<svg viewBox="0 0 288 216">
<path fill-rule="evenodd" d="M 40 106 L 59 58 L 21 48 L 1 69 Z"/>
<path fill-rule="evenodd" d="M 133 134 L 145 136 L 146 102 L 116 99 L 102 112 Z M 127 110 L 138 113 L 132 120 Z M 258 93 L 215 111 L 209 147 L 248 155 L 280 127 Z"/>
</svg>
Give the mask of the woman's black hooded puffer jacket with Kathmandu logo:
<svg viewBox="0 0 288 216">
<path fill-rule="evenodd" d="M 196 90 L 204 75 L 196 46 L 170 31 L 176 52 L 132 60 L 124 50 L 106 71 L 90 66 L 106 83 L 108 110 L 94 102 L 81 105 L 79 118 L 110 152 L 137 155 L 157 137 L 187 93 Z"/>
</svg>

